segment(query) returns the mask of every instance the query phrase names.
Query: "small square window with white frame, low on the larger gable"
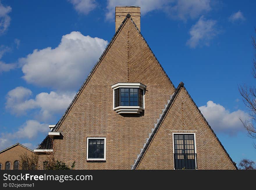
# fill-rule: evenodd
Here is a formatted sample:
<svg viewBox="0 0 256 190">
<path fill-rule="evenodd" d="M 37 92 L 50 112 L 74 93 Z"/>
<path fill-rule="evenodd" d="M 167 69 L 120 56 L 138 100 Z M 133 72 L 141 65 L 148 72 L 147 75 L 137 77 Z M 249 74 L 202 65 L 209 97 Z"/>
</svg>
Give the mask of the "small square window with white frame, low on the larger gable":
<svg viewBox="0 0 256 190">
<path fill-rule="evenodd" d="M 106 160 L 106 138 L 87 138 L 87 160 Z"/>
</svg>

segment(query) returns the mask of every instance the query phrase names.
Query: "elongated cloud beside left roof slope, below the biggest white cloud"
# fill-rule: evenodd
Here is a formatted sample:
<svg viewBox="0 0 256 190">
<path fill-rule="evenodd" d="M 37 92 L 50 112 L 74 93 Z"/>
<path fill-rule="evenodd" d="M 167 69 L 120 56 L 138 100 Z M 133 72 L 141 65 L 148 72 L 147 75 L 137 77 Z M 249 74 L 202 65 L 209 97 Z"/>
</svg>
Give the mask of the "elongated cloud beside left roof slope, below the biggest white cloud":
<svg viewBox="0 0 256 190">
<path fill-rule="evenodd" d="M 75 93 L 39 93 L 30 99 L 32 92 L 22 86 L 16 87 L 6 95 L 6 109 L 16 115 L 24 115 L 30 110 L 39 110 L 38 119 L 49 121 L 56 113 L 62 113 L 70 104 Z"/>
</svg>

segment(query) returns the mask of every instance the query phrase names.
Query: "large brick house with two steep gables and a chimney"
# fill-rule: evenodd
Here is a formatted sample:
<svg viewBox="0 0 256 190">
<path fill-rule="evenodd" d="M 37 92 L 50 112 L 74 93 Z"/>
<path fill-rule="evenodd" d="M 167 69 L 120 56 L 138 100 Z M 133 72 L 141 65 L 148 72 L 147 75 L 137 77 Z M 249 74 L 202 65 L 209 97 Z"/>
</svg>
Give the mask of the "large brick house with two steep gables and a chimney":
<svg viewBox="0 0 256 190">
<path fill-rule="evenodd" d="M 237 169 L 184 84 L 174 86 L 142 36 L 140 7 L 116 7 L 115 28 L 34 150 L 39 163 L 51 152 L 76 161 L 75 169 Z"/>
</svg>

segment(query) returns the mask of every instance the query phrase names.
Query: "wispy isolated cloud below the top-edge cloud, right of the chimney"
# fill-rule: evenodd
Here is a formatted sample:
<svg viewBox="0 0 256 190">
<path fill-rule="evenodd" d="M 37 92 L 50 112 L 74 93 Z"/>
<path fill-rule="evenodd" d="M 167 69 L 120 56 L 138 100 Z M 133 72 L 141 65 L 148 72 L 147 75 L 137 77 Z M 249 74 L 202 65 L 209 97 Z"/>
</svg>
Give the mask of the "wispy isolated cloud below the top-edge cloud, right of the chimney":
<svg viewBox="0 0 256 190">
<path fill-rule="evenodd" d="M 191 48 L 198 45 L 209 46 L 210 40 L 220 32 L 216 25 L 217 21 L 207 20 L 204 16 L 201 16 L 195 25 L 190 28 L 189 34 L 191 37 L 186 44 Z"/>
</svg>

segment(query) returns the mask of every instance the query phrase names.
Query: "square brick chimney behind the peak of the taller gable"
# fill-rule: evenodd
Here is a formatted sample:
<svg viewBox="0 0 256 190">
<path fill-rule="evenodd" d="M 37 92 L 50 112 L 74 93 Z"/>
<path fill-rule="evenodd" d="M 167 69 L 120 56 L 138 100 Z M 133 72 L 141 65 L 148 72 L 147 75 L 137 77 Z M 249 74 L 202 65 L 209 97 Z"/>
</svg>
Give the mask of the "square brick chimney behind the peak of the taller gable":
<svg viewBox="0 0 256 190">
<path fill-rule="evenodd" d="M 115 7 L 115 31 L 119 28 L 127 14 L 141 31 L 141 8 L 138 6 L 117 6 Z"/>
</svg>

